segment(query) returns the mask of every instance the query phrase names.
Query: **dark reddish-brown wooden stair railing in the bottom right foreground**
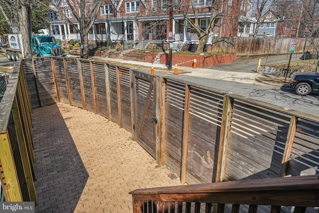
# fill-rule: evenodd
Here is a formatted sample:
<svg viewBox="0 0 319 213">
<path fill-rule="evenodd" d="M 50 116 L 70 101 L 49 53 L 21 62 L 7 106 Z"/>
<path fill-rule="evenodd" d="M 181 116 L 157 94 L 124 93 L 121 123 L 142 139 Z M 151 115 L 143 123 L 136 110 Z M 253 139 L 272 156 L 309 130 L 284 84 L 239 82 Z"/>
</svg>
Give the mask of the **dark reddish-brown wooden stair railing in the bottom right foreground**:
<svg viewBox="0 0 319 213">
<path fill-rule="evenodd" d="M 259 205 L 271 206 L 271 213 L 280 213 L 282 206 L 304 213 L 307 207 L 319 207 L 319 175 L 138 189 L 130 194 L 134 213 L 211 213 L 213 206 L 214 213 L 223 213 L 225 204 L 232 204 L 232 213 L 238 213 L 240 205 L 249 205 L 249 213 L 259 212 Z"/>
</svg>

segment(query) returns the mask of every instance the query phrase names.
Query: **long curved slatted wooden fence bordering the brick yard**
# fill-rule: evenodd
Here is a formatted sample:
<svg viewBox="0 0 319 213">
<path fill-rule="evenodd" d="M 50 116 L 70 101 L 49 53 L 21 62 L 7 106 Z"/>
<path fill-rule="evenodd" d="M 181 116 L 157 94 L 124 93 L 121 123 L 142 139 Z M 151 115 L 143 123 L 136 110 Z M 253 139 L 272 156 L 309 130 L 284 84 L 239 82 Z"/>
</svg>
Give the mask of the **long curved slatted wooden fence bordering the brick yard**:
<svg viewBox="0 0 319 213">
<path fill-rule="evenodd" d="M 116 122 L 182 183 L 319 173 L 316 116 L 107 62 L 23 67 L 33 107 L 61 101 Z"/>
</svg>

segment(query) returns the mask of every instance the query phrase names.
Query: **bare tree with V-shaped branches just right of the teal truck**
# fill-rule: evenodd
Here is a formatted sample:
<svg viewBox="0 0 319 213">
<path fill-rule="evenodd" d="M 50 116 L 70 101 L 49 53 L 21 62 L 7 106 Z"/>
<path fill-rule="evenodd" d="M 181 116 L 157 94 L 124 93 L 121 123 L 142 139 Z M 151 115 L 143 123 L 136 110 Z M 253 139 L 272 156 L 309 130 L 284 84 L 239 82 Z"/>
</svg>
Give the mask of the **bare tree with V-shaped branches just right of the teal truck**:
<svg viewBox="0 0 319 213">
<path fill-rule="evenodd" d="M 62 1 L 52 1 L 52 4 L 61 12 L 63 17 L 75 28 L 77 33 L 80 34 L 80 44 L 81 44 L 81 58 L 88 58 L 89 56 L 89 37 L 88 33 L 90 28 L 93 26 L 96 16 L 100 10 L 103 0 L 65 0 L 69 9 L 72 11 L 75 19 L 79 22 L 79 27 L 77 24 L 73 23 L 70 18 L 68 18 L 61 9 L 59 9 Z"/>
</svg>

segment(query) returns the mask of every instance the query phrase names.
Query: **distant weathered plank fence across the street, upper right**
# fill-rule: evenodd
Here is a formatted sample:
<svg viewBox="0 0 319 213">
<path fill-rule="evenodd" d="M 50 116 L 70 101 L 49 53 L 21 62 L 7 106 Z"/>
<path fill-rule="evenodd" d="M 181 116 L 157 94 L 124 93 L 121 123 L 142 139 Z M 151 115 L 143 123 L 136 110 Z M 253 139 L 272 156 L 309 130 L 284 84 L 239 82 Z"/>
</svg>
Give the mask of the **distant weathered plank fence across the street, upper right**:
<svg viewBox="0 0 319 213">
<path fill-rule="evenodd" d="M 212 52 L 236 52 L 237 56 L 288 54 L 292 38 L 213 37 Z M 319 39 L 314 39 L 318 43 Z M 318 46 L 317 45 L 317 46 Z M 306 38 L 298 38 L 295 53 L 313 52 L 314 47 Z"/>
</svg>

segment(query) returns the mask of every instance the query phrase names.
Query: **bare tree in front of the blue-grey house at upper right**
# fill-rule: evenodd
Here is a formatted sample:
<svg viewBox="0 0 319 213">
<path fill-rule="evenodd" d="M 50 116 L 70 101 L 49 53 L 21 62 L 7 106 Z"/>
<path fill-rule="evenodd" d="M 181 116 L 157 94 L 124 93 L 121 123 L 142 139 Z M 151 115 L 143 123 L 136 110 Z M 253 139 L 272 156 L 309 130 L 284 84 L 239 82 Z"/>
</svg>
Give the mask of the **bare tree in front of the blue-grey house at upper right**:
<svg viewBox="0 0 319 213">
<path fill-rule="evenodd" d="M 256 1 L 256 26 L 254 30 L 254 37 L 257 36 L 260 26 L 266 19 L 268 14 L 276 5 L 277 0 L 257 0 Z"/>
</svg>

